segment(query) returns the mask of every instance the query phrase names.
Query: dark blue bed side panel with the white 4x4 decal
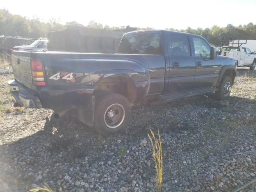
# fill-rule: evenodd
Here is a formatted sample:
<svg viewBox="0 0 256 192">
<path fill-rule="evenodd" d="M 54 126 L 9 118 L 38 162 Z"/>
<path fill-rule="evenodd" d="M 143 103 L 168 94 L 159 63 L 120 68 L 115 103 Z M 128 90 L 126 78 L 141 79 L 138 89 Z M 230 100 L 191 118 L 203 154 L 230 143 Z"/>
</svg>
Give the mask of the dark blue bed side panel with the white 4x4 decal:
<svg viewBox="0 0 256 192">
<path fill-rule="evenodd" d="M 156 82 L 157 89 L 149 86 L 150 94 L 164 87 L 165 61 L 160 55 L 34 52 L 33 57 L 44 60 L 48 86 L 94 86 L 110 76 L 126 76 L 134 82 Z"/>
</svg>

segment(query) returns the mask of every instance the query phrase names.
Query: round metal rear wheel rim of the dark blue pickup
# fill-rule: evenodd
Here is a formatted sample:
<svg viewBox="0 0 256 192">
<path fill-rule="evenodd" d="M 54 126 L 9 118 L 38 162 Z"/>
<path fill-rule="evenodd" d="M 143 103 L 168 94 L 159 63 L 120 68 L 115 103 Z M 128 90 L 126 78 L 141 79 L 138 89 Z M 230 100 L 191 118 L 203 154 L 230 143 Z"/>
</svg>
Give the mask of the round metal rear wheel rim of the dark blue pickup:
<svg viewBox="0 0 256 192">
<path fill-rule="evenodd" d="M 114 129 L 124 122 L 124 107 L 118 103 L 110 105 L 104 113 L 104 123 L 108 128 Z"/>
</svg>

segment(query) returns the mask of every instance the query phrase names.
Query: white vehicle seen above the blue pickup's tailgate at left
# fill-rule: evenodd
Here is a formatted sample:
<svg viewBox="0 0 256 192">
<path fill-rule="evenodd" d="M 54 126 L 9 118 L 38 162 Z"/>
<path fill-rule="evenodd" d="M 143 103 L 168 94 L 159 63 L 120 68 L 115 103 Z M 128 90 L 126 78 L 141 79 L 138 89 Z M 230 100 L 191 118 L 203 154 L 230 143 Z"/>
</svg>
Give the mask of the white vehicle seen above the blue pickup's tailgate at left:
<svg viewBox="0 0 256 192">
<path fill-rule="evenodd" d="M 40 38 L 40 39 L 34 41 L 30 45 L 15 46 L 13 48 L 13 50 L 24 50 L 24 51 L 47 50 L 47 42 L 48 42 L 48 40 L 46 38 Z"/>
</svg>

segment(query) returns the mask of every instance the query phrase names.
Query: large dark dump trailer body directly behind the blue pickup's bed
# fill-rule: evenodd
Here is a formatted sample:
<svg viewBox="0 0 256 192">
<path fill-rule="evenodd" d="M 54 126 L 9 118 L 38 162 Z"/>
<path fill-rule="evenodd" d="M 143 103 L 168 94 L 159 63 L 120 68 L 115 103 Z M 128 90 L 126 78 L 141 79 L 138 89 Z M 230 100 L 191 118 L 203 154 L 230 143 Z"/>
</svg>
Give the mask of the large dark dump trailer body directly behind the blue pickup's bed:
<svg viewBox="0 0 256 192">
<path fill-rule="evenodd" d="M 49 51 L 115 53 L 124 33 L 136 28 L 96 29 L 67 26 L 47 34 Z"/>
</svg>

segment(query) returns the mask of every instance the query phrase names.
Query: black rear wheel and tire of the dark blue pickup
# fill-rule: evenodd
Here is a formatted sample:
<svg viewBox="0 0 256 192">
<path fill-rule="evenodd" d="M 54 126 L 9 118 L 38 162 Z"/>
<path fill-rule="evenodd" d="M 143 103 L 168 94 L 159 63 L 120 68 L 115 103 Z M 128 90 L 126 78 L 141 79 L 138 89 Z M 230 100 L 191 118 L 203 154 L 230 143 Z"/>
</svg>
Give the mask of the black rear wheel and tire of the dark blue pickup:
<svg viewBox="0 0 256 192">
<path fill-rule="evenodd" d="M 94 128 L 103 135 L 113 135 L 123 131 L 131 117 L 131 105 L 128 100 L 117 93 L 97 93 L 94 114 Z"/>
</svg>

